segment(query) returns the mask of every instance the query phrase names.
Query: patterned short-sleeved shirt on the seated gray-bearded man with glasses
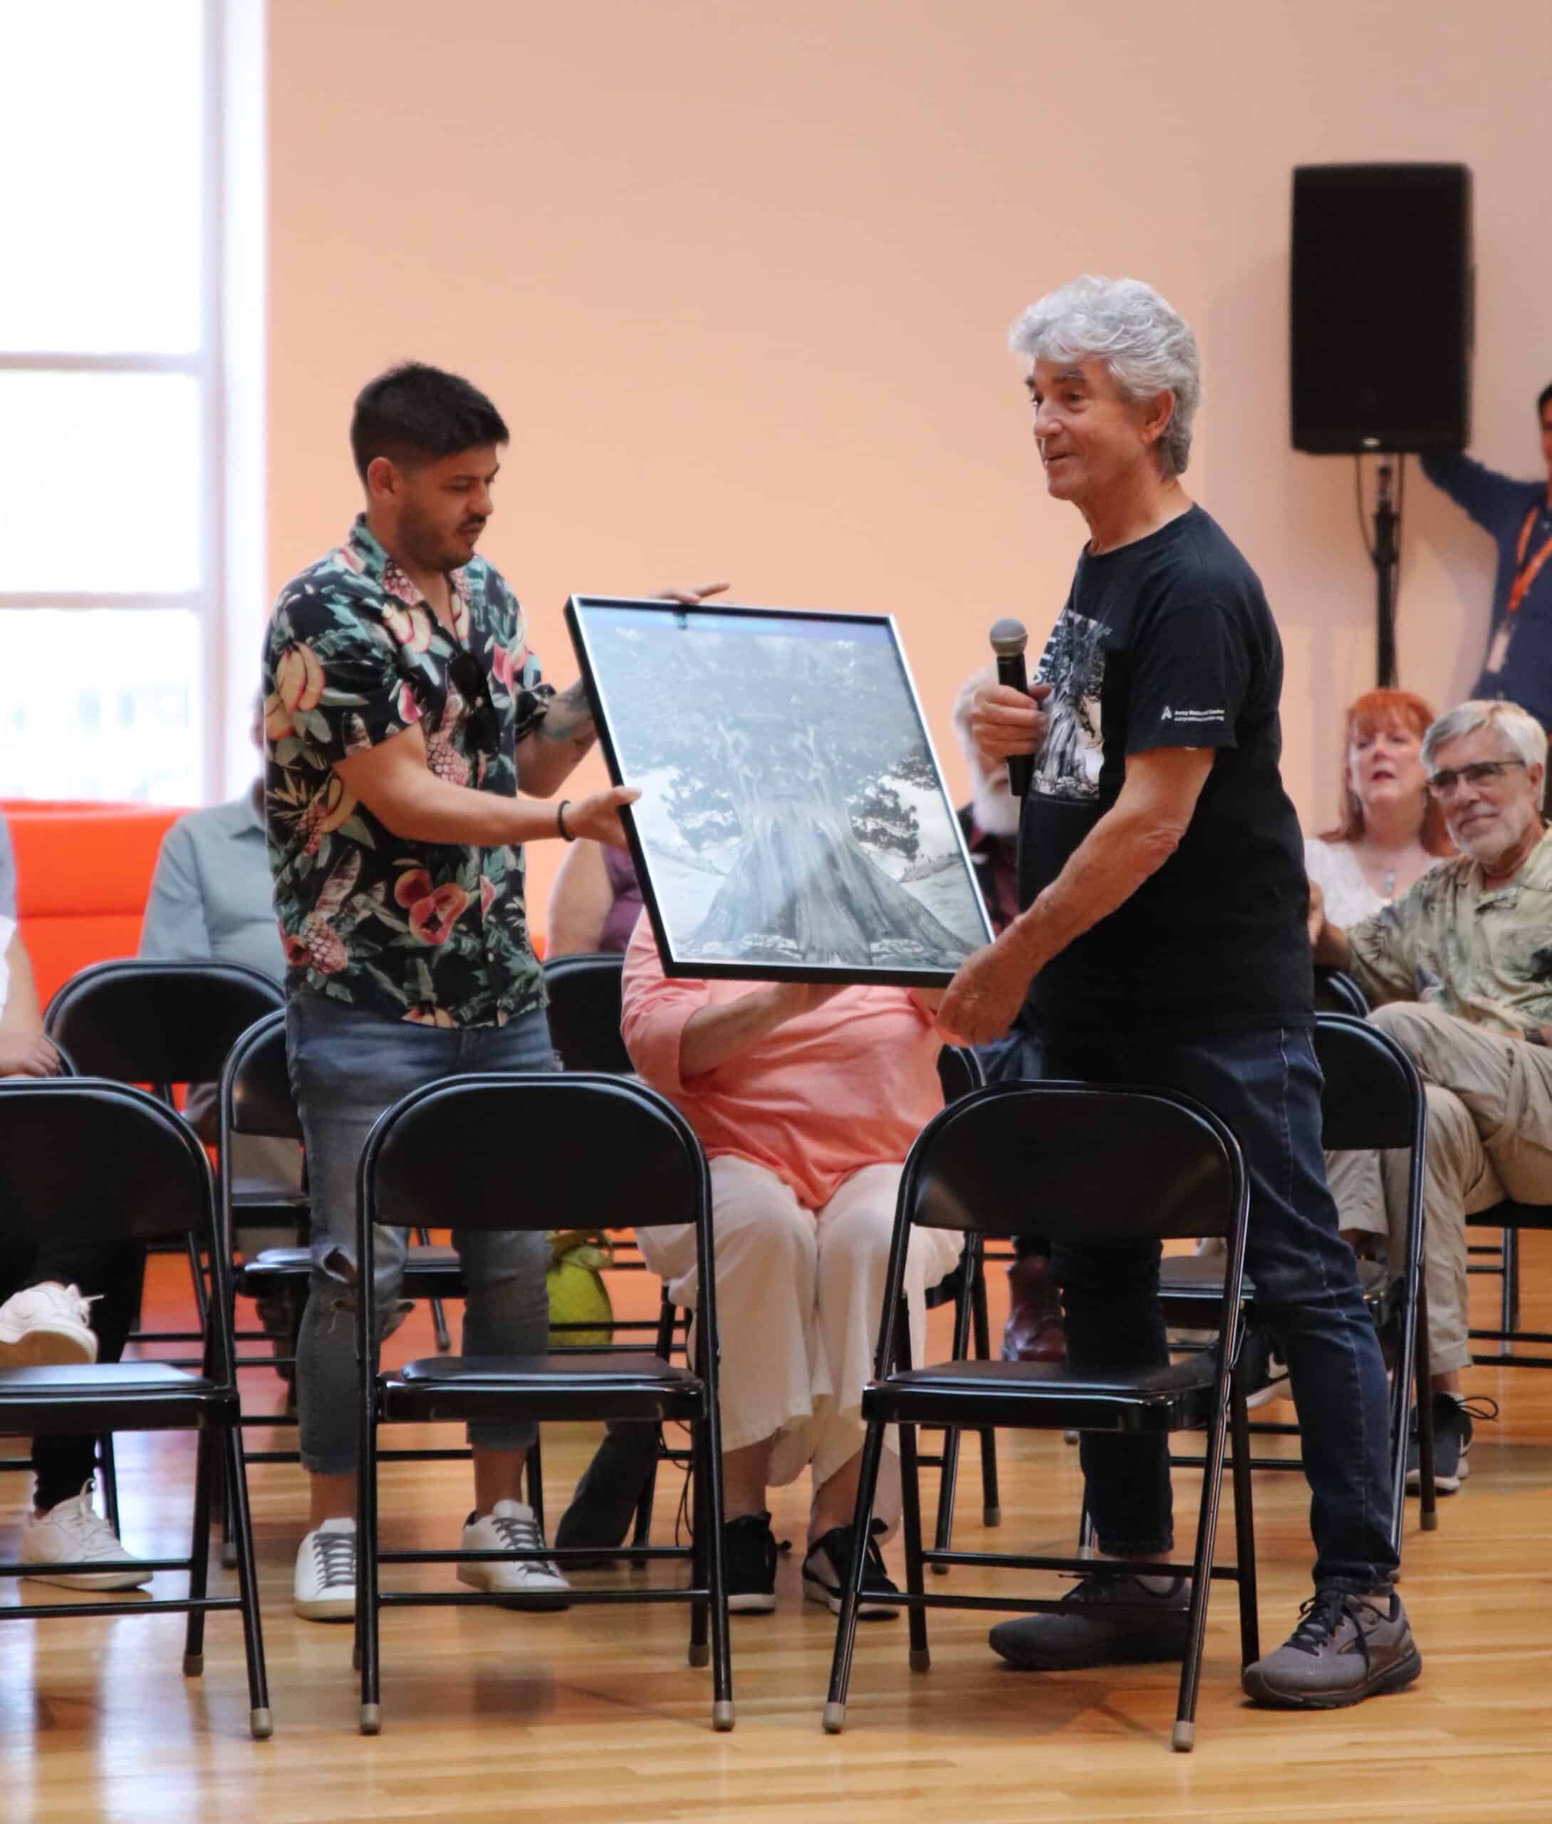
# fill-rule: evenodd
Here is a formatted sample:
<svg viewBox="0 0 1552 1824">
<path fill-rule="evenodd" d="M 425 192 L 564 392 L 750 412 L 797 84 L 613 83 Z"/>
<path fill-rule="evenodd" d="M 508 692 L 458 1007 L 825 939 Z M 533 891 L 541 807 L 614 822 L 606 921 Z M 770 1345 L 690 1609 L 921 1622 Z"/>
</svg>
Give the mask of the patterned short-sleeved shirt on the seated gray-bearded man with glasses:
<svg viewBox="0 0 1552 1824">
<path fill-rule="evenodd" d="M 1552 832 L 1503 886 L 1470 855 L 1441 861 L 1348 927 L 1348 945 L 1371 1001 L 1423 1001 L 1510 1038 L 1552 1025 Z"/>
</svg>

